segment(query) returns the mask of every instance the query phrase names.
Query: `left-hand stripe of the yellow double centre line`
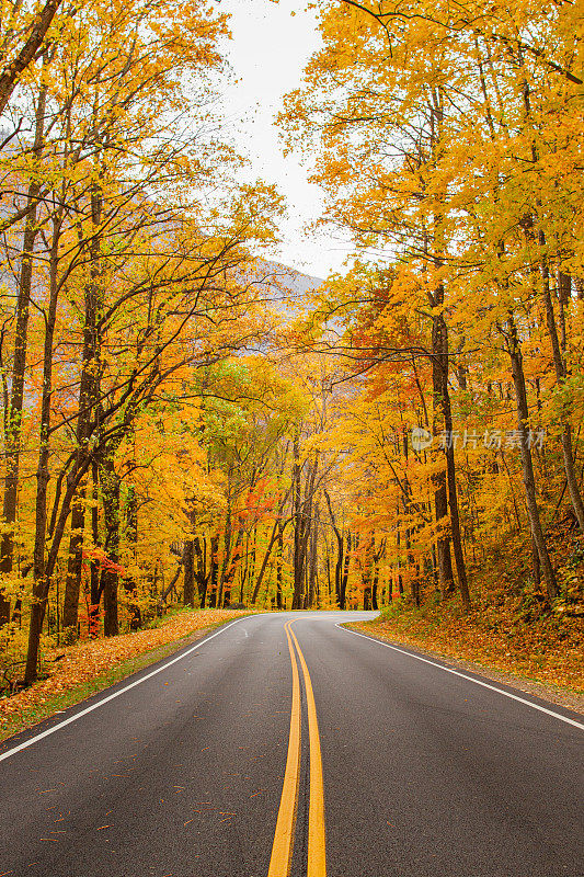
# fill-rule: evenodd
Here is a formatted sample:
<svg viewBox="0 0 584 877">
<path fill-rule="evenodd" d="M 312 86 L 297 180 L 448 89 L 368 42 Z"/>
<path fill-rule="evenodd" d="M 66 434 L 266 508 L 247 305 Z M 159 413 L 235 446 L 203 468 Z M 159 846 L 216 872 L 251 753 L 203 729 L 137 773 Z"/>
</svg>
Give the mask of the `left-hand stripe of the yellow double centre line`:
<svg viewBox="0 0 584 877">
<path fill-rule="evenodd" d="M 274 843 L 272 844 L 272 856 L 270 858 L 267 877 L 288 877 L 290 872 L 298 801 L 298 781 L 300 776 L 300 679 L 290 638 L 289 624 L 290 622 L 286 622 L 284 629 L 288 638 L 293 671 L 290 734 L 288 739 L 286 772 L 282 785 L 282 798 L 279 801 L 278 818 L 276 821 L 276 831 L 274 833 Z"/>
</svg>

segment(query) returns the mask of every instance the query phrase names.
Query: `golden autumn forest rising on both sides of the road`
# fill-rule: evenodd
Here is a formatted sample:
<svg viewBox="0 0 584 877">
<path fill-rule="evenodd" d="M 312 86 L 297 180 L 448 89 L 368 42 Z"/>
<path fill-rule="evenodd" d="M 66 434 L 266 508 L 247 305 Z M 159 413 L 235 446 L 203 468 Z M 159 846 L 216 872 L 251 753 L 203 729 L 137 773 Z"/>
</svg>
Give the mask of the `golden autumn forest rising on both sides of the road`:
<svg viewBox="0 0 584 877">
<path fill-rule="evenodd" d="M 354 242 L 318 281 L 266 255 L 285 204 L 214 124 L 220 4 L 0 0 L 0 670 L 24 685 L 182 607 L 576 648 L 582 7 L 316 5 L 278 126 Z"/>
</svg>

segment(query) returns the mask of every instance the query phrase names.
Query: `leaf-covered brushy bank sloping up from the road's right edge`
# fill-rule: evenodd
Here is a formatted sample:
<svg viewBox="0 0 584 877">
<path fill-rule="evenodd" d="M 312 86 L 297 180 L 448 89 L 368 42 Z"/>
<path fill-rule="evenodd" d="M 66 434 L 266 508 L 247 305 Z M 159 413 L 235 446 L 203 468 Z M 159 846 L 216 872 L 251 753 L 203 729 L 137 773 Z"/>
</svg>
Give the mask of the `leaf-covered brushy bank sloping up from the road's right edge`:
<svg viewBox="0 0 584 877">
<path fill-rule="evenodd" d="M 560 534 L 553 543 L 560 594 L 550 603 L 536 584 L 527 545 L 494 546 L 472 570 L 472 608 L 432 584 L 422 605 L 396 600 L 364 630 L 541 682 L 584 691 L 584 544 Z"/>
</svg>

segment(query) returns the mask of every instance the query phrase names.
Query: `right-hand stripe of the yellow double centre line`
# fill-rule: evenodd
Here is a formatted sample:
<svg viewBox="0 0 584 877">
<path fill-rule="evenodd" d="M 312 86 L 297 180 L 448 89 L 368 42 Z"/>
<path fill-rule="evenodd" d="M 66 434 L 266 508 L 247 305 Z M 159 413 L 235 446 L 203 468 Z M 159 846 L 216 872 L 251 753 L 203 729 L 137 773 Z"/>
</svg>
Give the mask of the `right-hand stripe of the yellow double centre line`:
<svg viewBox="0 0 584 877">
<path fill-rule="evenodd" d="M 322 754 L 320 749 L 319 722 L 317 705 L 312 692 L 310 673 L 305 661 L 302 650 L 291 629 L 294 622 L 289 623 L 289 631 L 295 641 L 300 659 L 300 667 L 305 677 L 306 699 L 308 706 L 308 732 L 310 737 L 310 806 L 308 810 L 308 870 L 307 877 L 325 877 L 327 848 L 324 838 L 324 784 L 322 779 Z"/>
</svg>

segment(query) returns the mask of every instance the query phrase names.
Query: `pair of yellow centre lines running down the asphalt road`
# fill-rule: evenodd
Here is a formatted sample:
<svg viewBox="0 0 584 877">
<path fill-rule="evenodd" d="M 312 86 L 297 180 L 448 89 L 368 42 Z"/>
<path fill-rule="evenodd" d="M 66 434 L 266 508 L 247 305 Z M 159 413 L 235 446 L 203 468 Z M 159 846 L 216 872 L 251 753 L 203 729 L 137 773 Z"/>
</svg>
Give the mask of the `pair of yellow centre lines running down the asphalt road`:
<svg viewBox="0 0 584 877">
<path fill-rule="evenodd" d="M 294 619 L 286 622 L 284 629 L 288 638 L 288 649 L 293 670 L 293 699 L 290 714 L 290 736 L 288 741 L 288 756 L 286 772 L 282 786 L 276 831 L 272 845 L 272 857 L 267 877 L 288 877 L 293 850 L 294 828 L 298 805 L 298 783 L 300 776 L 300 677 L 298 662 L 293 646 L 296 646 L 298 659 L 305 679 L 306 699 L 308 707 L 308 734 L 310 739 L 310 805 L 308 810 L 308 870 L 307 877 L 325 877 L 327 859 L 324 845 L 324 787 L 322 782 L 322 755 L 320 751 L 319 724 L 317 720 L 317 706 L 310 674 L 305 661 L 302 650 L 291 625 Z"/>
</svg>

